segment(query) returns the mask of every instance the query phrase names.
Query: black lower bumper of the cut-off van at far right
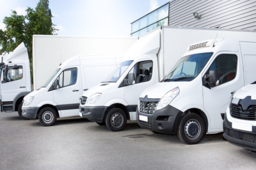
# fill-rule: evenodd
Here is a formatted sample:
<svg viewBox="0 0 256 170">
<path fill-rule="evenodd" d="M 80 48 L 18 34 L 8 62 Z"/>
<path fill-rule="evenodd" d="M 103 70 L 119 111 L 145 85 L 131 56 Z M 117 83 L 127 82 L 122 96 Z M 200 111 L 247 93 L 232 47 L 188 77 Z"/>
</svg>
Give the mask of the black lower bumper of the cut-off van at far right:
<svg viewBox="0 0 256 170">
<path fill-rule="evenodd" d="M 228 142 L 256 151 L 256 128 L 253 126 L 252 132 L 238 130 L 232 128 L 232 122 L 229 122 L 226 114 L 223 121 L 223 137 L 227 139 Z"/>
</svg>

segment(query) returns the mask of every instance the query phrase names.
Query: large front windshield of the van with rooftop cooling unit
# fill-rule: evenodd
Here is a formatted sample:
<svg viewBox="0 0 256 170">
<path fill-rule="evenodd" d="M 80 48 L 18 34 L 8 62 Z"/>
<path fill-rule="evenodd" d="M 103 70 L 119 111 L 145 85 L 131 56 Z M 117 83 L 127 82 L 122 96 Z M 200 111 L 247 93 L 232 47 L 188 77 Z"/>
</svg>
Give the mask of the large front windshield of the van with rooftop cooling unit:
<svg viewBox="0 0 256 170">
<path fill-rule="evenodd" d="M 207 52 L 182 57 L 161 82 L 193 80 L 212 55 L 213 52 Z"/>
</svg>

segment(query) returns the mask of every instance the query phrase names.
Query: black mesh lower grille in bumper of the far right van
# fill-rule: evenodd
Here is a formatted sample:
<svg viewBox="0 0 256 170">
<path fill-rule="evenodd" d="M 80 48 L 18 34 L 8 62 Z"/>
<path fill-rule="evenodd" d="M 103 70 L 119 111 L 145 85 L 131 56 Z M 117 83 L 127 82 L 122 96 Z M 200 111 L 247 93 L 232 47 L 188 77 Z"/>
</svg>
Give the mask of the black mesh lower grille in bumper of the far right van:
<svg viewBox="0 0 256 170">
<path fill-rule="evenodd" d="M 240 132 L 240 131 L 228 129 L 228 128 L 224 128 L 223 130 L 224 130 L 224 133 L 229 137 L 233 137 L 235 139 L 239 139 L 242 141 L 256 143 L 256 135 L 255 134 Z"/>
</svg>

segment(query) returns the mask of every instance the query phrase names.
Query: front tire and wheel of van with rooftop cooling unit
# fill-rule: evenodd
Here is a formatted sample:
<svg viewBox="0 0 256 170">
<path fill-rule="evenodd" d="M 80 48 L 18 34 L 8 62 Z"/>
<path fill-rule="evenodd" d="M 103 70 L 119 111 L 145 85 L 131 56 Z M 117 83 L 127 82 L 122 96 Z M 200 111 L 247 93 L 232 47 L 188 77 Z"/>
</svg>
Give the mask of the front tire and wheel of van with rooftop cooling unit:
<svg viewBox="0 0 256 170">
<path fill-rule="evenodd" d="M 195 113 L 183 114 L 180 117 L 177 136 L 180 141 L 192 145 L 197 144 L 204 138 L 204 120 Z"/>
</svg>

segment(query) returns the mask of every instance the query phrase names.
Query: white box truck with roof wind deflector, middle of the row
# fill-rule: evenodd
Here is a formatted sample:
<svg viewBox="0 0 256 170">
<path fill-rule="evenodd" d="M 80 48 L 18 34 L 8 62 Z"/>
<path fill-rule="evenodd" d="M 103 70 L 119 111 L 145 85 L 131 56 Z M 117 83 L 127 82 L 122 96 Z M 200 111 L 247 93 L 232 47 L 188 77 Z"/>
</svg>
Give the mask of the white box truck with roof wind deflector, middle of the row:
<svg viewBox="0 0 256 170">
<path fill-rule="evenodd" d="M 107 82 L 82 95 L 80 116 L 101 125 L 106 123 L 112 131 L 122 130 L 127 120 L 137 119 L 142 91 L 161 81 L 190 44 L 215 38 L 217 34 L 218 38 L 256 38 L 253 31 L 161 26 L 139 37 Z M 149 96 L 143 98 L 151 100 Z M 151 107 L 154 111 L 155 104 Z"/>
</svg>

